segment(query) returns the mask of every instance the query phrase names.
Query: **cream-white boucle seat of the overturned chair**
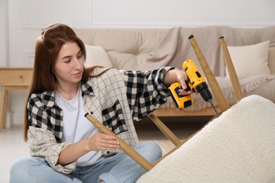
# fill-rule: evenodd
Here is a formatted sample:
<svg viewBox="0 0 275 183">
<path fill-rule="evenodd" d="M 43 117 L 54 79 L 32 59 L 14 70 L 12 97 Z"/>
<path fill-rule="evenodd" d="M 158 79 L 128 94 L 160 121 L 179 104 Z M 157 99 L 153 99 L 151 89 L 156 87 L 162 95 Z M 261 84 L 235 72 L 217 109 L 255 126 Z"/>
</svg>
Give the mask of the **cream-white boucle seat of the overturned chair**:
<svg viewBox="0 0 275 183">
<path fill-rule="evenodd" d="M 138 179 L 275 182 L 275 104 L 247 96 Z"/>
</svg>

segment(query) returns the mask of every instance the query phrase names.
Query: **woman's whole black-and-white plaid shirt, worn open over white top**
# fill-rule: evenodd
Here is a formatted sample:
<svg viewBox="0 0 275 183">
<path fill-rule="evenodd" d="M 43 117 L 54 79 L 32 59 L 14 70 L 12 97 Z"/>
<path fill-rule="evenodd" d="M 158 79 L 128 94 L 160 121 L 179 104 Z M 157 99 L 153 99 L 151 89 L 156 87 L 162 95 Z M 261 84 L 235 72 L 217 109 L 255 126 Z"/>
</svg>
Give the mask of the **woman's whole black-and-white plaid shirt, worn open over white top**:
<svg viewBox="0 0 275 183">
<path fill-rule="evenodd" d="M 140 120 L 166 102 L 169 92 L 164 76 L 170 67 L 146 72 L 111 69 L 99 77 L 81 83 L 85 111 L 130 145 L 138 142 L 133 120 Z M 94 70 L 94 74 L 103 68 Z M 27 103 L 29 130 L 27 132 L 31 156 L 44 158 L 51 168 L 63 173 L 75 169 L 75 162 L 57 164 L 59 153 L 70 144 L 61 143 L 63 112 L 55 103 L 54 92 L 35 93 Z M 121 151 L 118 149 L 118 151 Z M 118 151 L 104 151 L 112 156 Z"/>
</svg>

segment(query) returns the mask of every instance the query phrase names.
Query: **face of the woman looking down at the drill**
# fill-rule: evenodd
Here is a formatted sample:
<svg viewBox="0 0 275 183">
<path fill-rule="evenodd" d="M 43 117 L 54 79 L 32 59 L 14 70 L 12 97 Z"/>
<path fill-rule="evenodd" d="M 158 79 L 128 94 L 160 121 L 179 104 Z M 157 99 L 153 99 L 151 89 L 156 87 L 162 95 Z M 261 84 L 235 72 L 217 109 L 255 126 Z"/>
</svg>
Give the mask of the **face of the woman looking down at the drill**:
<svg viewBox="0 0 275 183">
<path fill-rule="evenodd" d="M 61 47 L 54 65 L 54 75 L 58 84 L 78 84 L 82 78 L 84 56 L 75 42 Z"/>
</svg>

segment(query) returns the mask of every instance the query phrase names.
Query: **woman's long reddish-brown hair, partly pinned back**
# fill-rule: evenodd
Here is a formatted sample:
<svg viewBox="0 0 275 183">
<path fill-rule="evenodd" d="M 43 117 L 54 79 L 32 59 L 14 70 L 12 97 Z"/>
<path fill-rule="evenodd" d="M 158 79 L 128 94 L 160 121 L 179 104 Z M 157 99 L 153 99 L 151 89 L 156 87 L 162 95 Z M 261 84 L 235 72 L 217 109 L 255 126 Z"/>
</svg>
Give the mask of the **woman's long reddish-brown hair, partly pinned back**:
<svg viewBox="0 0 275 183">
<path fill-rule="evenodd" d="M 82 40 L 77 37 L 71 27 L 60 23 L 49 25 L 42 29 L 42 34 L 37 38 L 35 46 L 35 63 L 32 73 L 32 82 L 25 101 L 25 117 L 24 117 L 24 140 L 27 141 L 27 130 L 29 129 L 27 101 L 32 93 L 42 93 L 45 91 L 56 90 L 56 77 L 54 75 L 54 65 L 59 55 L 61 47 L 68 43 L 75 42 L 86 60 L 85 45 Z M 98 75 L 90 75 L 90 72 L 98 68 L 85 69 L 82 74 L 82 82 L 87 82 L 89 77 L 97 77 Z M 106 70 L 105 70 L 106 71 Z M 102 75 L 103 72 L 99 73 Z"/>
</svg>

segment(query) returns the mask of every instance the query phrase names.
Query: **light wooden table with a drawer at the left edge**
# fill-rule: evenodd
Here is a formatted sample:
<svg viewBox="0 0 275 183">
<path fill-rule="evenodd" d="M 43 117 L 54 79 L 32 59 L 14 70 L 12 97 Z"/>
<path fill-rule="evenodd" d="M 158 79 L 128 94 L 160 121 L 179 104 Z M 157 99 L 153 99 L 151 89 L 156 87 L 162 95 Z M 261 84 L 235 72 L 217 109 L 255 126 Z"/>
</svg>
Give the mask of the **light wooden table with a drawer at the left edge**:
<svg viewBox="0 0 275 183">
<path fill-rule="evenodd" d="M 32 79 L 32 68 L 0 68 L 0 132 L 6 127 L 6 114 L 8 106 L 8 91 L 28 89 Z M 24 108 L 22 108 L 24 111 Z"/>
</svg>

